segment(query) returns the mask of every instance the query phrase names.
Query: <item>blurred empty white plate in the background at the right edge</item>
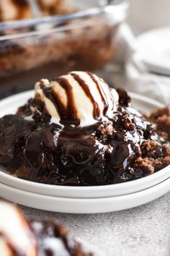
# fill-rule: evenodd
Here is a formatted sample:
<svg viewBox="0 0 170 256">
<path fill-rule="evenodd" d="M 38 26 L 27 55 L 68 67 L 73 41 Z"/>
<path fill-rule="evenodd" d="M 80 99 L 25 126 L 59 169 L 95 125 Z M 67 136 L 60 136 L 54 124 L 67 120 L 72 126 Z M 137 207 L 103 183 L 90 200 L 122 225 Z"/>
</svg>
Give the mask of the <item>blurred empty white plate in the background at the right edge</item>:
<svg viewBox="0 0 170 256">
<path fill-rule="evenodd" d="M 139 53 L 153 72 L 170 75 L 170 27 L 151 30 L 138 36 Z"/>
</svg>

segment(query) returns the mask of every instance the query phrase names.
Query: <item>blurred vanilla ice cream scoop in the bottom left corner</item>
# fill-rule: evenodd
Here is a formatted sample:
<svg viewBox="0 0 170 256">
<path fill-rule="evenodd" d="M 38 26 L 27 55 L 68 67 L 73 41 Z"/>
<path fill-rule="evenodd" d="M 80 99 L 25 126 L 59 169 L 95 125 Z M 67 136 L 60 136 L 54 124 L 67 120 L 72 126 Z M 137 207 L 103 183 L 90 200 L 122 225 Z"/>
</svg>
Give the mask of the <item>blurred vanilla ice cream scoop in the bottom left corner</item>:
<svg viewBox="0 0 170 256">
<path fill-rule="evenodd" d="M 36 256 L 36 240 L 22 212 L 16 206 L 0 202 L 0 255 L 13 256 L 9 245 L 21 255 Z"/>
</svg>

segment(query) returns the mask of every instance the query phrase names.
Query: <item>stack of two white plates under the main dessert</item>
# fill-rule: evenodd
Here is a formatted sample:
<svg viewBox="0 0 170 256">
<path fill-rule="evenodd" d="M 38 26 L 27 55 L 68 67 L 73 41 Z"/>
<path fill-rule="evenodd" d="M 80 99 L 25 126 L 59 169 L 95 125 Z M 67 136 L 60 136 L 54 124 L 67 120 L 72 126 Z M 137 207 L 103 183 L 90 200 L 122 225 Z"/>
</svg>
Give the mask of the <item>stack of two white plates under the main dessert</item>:
<svg viewBox="0 0 170 256">
<path fill-rule="evenodd" d="M 33 96 L 19 93 L 0 102 L 0 116 L 14 114 Z M 144 113 L 163 106 L 151 98 L 131 93 L 133 106 Z M 0 167 L 0 196 L 21 205 L 61 213 L 106 213 L 151 202 L 170 191 L 170 166 L 144 178 L 97 187 L 38 184 L 18 179 Z"/>
</svg>

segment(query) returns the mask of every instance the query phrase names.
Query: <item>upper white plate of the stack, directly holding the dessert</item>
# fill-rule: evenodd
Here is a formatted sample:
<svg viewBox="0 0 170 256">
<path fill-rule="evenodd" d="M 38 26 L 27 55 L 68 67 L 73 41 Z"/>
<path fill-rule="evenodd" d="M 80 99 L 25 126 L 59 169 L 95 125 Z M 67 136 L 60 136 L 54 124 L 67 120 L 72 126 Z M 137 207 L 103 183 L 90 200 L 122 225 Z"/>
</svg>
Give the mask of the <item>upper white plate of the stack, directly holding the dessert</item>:
<svg viewBox="0 0 170 256">
<path fill-rule="evenodd" d="M 0 102 L 0 116 L 15 113 L 18 106 L 26 103 L 28 98 L 33 96 L 33 90 L 25 93 L 19 93 L 12 97 L 6 98 Z M 150 98 L 131 93 L 133 98 L 133 106 L 139 110 L 149 113 L 154 109 L 163 106 L 161 103 Z M 28 192 L 34 192 L 42 195 L 50 195 L 55 197 L 71 197 L 71 198 L 97 198 L 97 197 L 113 197 L 117 195 L 127 195 L 138 192 L 163 182 L 170 176 L 170 166 L 158 171 L 156 174 L 122 184 L 113 184 L 106 186 L 91 187 L 71 187 L 56 186 L 48 184 L 39 184 L 18 179 L 10 174 L 5 173 L 5 169 L 1 167 L 0 182 L 9 187 L 19 188 Z"/>
</svg>

